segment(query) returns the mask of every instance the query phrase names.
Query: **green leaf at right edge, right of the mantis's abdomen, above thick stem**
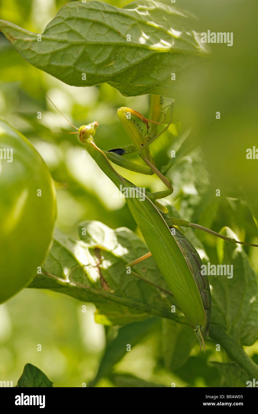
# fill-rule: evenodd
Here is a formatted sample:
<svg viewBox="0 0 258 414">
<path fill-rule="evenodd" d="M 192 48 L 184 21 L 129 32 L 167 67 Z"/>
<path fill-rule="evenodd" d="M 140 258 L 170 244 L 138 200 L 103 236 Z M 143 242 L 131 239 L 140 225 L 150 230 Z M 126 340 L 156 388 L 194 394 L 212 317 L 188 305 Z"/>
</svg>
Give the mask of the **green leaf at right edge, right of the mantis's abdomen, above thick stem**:
<svg viewBox="0 0 258 414">
<path fill-rule="evenodd" d="M 236 238 L 225 227 L 222 234 Z M 233 277 L 209 276 L 212 286 L 212 324 L 242 345 L 251 346 L 258 335 L 257 275 L 240 245 L 217 240 L 220 263 L 233 266 Z"/>
</svg>

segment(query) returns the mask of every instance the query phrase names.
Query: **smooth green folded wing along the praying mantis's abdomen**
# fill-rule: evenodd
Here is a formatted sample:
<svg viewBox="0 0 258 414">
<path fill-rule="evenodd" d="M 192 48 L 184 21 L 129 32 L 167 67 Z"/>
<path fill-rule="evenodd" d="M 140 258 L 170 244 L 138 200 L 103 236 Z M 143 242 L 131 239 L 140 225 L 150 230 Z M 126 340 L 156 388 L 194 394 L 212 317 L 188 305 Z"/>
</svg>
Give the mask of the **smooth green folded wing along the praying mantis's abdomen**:
<svg viewBox="0 0 258 414">
<path fill-rule="evenodd" d="M 125 180 L 125 185 L 133 186 L 127 180 Z M 176 303 L 195 332 L 200 331 L 200 328 L 203 330 L 206 326 L 203 300 L 188 262 L 182 253 L 182 247 L 171 234 L 161 212 L 148 196 L 142 202 L 137 198 L 126 198 L 126 200 L 159 271 L 176 299 Z"/>
</svg>

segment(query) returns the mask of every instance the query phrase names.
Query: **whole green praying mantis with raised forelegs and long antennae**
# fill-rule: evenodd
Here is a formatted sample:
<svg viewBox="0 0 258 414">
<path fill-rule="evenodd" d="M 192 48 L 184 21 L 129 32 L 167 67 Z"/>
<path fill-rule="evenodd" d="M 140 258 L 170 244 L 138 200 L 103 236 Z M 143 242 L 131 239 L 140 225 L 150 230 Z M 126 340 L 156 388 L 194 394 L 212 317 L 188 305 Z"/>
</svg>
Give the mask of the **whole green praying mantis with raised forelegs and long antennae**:
<svg viewBox="0 0 258 414">
<path fill-rule="evenodd" d="M 53 105 L 55 106 L 54 103 Z M 152 255 L 159 271 L 171 290 L 170 293 L 176 300 L 176 304 L 178 304 L 189 325 L 197 335 L 200 342 L 200 348 L 202 349 L 203 344 L 205 351 L 204 339 L 208 338 L 211 319 L 210 285 L 207 276 L 202 275 L 200 272 L 202 262 L 198 252 L 186 236 L 184 236 L 175 226 L 200 229 L 231 243 L 240 243 L 256 247 L 258 247 L 258 245 L 239 242 L 198 224 L 190 223 L 186 220 L 175 219 L 167 215 L 168 211 L 166 207 L 164 207 L 158 200 L 170 195 L 173 192 L 173 187 L 169 180 L 167 180 L 167 178 L 156 168 L 152 155 L 150 154 L 149 144 L 169 128 L 172 121 L 173 111 L 171 106 L 170 120 L 167 126 L 157 134 L 157 126 L 162 123 L 159 122 L 162 106 L 159 103 L 158 97 L 152 98 L 152 106 L 154 108 L 154 118 L 157 120 L 149 120 L 139 112 L 130 108 L 122 107 L 118 109 L 118 117 L 128 133 L 132 144 L 111 149 L 109 151 L 101 150 L 94 142 L 94 136 L 99 126 L 97 121 L 88 125 L 82 125 L 80 128 L 71 125 L 78 130 L 79 139 L 85 145 L 87 152 L 92 156 L 94 161 L 96 161 L 106 176 L 113 181 L 116 187 L 119 190 L 134 190 L 133 193 L 136 193 L 136 197 L 126 197 L 126 202 L 128 203 L 130 212 L 132 213 L 150 252 L 141 258 L 128 263 L 126 266 L 133 267 L 141 260 L 145 260 Z M 55 108 L 58 110 L 56 106 Z M 147 129 L 145 134 L 135 122 L 135 118 L 141 120 L 145 124 Z M 68 122 L 70 123 L 70 121 Z M 150 128 L 149 123 L 152 123 L 154 127 Z M 124 158 L 126 154 L 134 151 L 138 152 L 138 155 L 146 165 L 142 166 Z M 167 189 L 156 193 L 145 191 L 143 194 L 142 189 L 121 176 L 115 170 L 111 162 L 130 171 L 142 174 L 151 175 L 156 173 L 164 185 L 166 185 Z M 129 192 L 129 194 L 132 194 L 132 192 Z M 137 275 L 135 272 L 132 273 Z"/>
</svg>

